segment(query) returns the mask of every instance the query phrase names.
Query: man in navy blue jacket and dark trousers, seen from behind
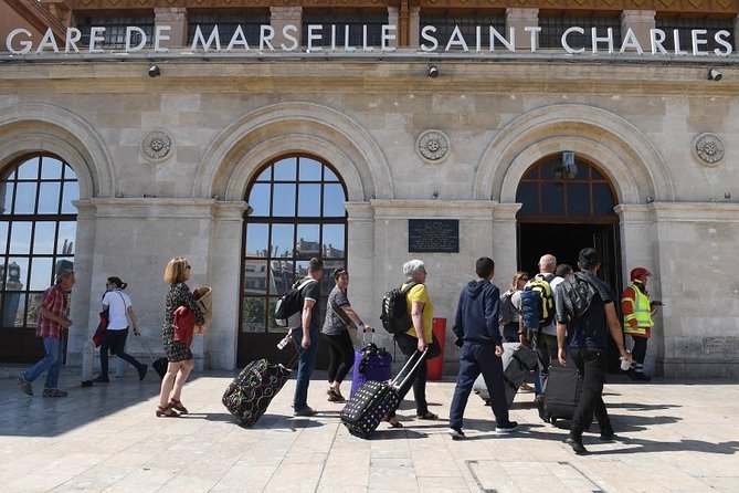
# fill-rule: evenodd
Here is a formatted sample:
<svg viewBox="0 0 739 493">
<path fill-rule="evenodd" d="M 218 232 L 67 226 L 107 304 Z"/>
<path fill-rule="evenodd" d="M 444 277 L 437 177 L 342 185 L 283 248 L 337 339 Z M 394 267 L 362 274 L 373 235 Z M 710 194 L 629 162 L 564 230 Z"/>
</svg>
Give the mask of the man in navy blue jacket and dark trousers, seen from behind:
<svg viewBox="0 0 739 493">
<path fill-rule="evenodd" d="M 469 281 L 460 293 L 454 334 L 460 355 L 460 374 L 450 410 L 448 434 L 453 439 L 464 438 L 462 419 L 475 379 L 483 374 L 490 395 L 490 408 L 495 415 L 496 431 L 505 433 L 518 428 L 508 419 L 506 390 L 503 380 L 503 339 L 498 331 L 500 291 L 490 283 L 495 262 L 487 256 L 477 259 L 475 272 L 479 277 Z"/>
</svg>

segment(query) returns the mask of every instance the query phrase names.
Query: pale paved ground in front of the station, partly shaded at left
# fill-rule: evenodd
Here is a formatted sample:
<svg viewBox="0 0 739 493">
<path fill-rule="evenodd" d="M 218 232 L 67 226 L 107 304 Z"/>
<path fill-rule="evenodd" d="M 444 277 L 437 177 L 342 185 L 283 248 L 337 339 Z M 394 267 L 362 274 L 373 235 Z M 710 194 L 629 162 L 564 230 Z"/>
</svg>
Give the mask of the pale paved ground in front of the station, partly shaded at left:
<svg viewBox="0 0 739 493">
<path fill-rule="evenodd" d="M 236 426 L 220 403 L 231 375 L 197 375 L 182 398 L 192 413 L 180 419 L 155 417 L 154 373 L 94 388 L 81 388 L 78 375 L 65 369 L 70 396 L 61 399 L 40 397 L 41 381 L 27 397 L 14 379 L 0 379 L 0 491 L 739 491 L 739 384 L 726 380 L 613 379 L 605 401 L 623 440 L 601 443 L 590 433 L 592 454 L 576 457 L 562 443 L 567 430 L 538 420 L 531 394 L 517 396 L 511 415 L 521 427 L 511 436 L 496 436 L 489 408 L 472 396 L 465 441 L 446 436 L 445 419 L 412 419 L 408 401 L 404 429 L 381 424 L 365 441 L 340 424 L 320 375 L 309 398 L 318 416 L 291 417 L 291 381 L 253 429 Z M 429 385 L 442 418 L 453 389 Z"/>
</svg>

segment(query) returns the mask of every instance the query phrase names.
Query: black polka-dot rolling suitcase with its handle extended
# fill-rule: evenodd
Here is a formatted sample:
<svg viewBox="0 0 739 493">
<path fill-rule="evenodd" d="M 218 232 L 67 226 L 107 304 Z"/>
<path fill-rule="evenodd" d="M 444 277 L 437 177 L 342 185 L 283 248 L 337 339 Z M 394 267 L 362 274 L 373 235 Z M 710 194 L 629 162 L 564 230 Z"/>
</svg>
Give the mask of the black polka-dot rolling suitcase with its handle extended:
<svg viewBox="0 0 739 493">
<path fill-rule="evenodd" d="M 415 352 L 391 381 L 367 381 L 341 409 L 341 422 L 349 432 L 363 439 L 370 438 L 380 421 L 400 405 L 401 389 L 405 389 L 422 363 L 426 350 Z"/>
</svg>

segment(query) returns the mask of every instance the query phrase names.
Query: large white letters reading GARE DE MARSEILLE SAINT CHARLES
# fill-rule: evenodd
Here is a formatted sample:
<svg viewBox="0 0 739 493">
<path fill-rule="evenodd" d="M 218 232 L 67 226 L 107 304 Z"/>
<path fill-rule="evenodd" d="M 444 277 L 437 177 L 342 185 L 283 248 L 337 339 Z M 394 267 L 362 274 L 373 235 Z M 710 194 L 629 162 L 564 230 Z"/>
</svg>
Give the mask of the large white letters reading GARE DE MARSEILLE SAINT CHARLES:
<svg viewBox="0 0 739 493">
<path fill-rule="evenodd" d="M 359 27 L 353 29 L 359 30 Z M 370 46 L 368 45 L 368 29 L 379 29 L 380 32 L 380 46 Z M 67 28 L 66 36 L 64 40 L 64 45 L 62 46 L 51 29 L 47 29 L 41 41 L 34 45 L 32 41 L 32 33 L 23 28 L 18 28 L 11 31 L 6 39 L 6 51 L 12 55 L 25 55 L 25 54 L 77 54 L 77 53 L 91 53 L 91 54 L 127 54 L 135 53 L 144 50 L 147 44 L 152 46 L 155 53 L 166 53 L 170 50 L 162 46 L 162 41 L 169 41 L 170 36 L 168 31 L 170 31 L 169 25 L 157 25 L 154 29 L 151 34 L 151 43 L 149 43 L 149 36 L 146 32 L 138 27 L 129 25 L 126 27 L 126 34 L 123 50 L 116 49 L 116 51 L 104 50 L 102 44 L 105 42 L 105 31 L 106 28 L 93 27 L 88 29 L 88 38 L 86 46 L 80 48 L 80 42 L 82 40 L 82 31 L 76 28 Z M 421 30 L 421 52 L 434 53 L 434 52 L 448 52 L 463 51 L 463 52 L 495 52 L 496 46 L 507 50 L 508 52 L 515 52 L 516 45 L 516 35 L 529 36 L 530 38 L 530 51 L 535 53 L 537 51 L 537 40 L 541 28 L 539 27 L 527 27 L 524 28 L 524 33 L 517 33 L 515 28 L 510 28 L 508 36 L 505 36 L 504 33 L 500 33 L 493 27 L 478 25 L 475 28 L 474 35 L 462 34 L 462 31 L 457 25 L 454 27 L 452 34 L 446 41 L 445 45 L 442 45 L 436 36 L 436 28 L 433 25 L 425 25 Z M 298 29 L 294 24 L 286 24 L 282 29 L 282 39 L 285 42 L 277 44 L 274 41 L 275 30 L 272 25 L 263 24 L 260 25 L 260 42 L 257 46 L 250 46 L 246 42 L 246 36 L 243 29 L 239 25 L 230 39 L 221 39 L 219 34 L 218 25 L 208 34 L 203 34 L 200 25 L 197 27 L 194 38 L 189 51 L 182 52 L 182 54 L 196 54 L 196 53 L 250 53 L 256 51 L 257 53 L 265 52 L 297 52 L 300 46 L 298 44 Z M 567 29 L 560 39 L 562 50 L 568 54 L 578 54 L 585 53 L 585 46 L 572 45 L 573 35 L 585 35 L 585 29 L 574 25 Z M 344 52 L 356 52 L 360 50 L 361 52 L 392 52 L 395 48 L 395 27 L 392 24 L 386 24 L 382 27 L 361 27 L 362 34 L 362 46 L 352 46 L 349 45 L 349 25 L 323 25 L 323 24 L 309 24 L 307 27 L 307 36 L 305 51 L 307 53 L 313 52 L 336 52 L 341 50 Z M 694 29 L 690 31 L 690 46 L 682 46 L 679 30 L 674 30 L 672 32 L 663 31 L 661 29 L 651 29 L 650 30 L 650 45 L 642 46 L 640 41 L 636 39 L 636 35 L 631 28 L 626 31 L 621 41 L 621 45 L 616 46 L 613 39 L 613 30 L 608 29 L 605 34 L 598 35 L 595 28 L 590 29 L 590 46 L 589 50 L 593 54 L 599 53 L 624 53 L 629 51 L 630 53 L 644 54 L 645 52 L 651 52 L 653 55 L 693 55 L 693 56 L 729 56 L 732 52 L 731 43 L 728 41 L 730 38 L 729 31 L 722 30 L 714 33 L 714 41 L 716 48 L 712 51 L 709 51 L 706 45 L 708 44 L 708 31 L 705 29 Z M 488 45 L 483 48 L 483 40 L 486 36 Z M 664 48 L 665 40 L 667 36 L 673 39 L 672 50 Z M 329 45 L 324 45 L 326 42 L 329 42 Z M 228 44 L 226 44 L 228 42 Z"/>
</svg>

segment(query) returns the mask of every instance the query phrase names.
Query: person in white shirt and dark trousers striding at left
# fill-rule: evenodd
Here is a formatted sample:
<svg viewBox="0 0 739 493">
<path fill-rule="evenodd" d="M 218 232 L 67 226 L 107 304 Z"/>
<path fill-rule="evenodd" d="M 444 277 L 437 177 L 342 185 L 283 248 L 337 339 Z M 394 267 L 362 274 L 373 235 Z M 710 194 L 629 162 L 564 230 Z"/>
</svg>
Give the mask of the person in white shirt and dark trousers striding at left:
<svg viewBox="0 0 739 493">
<path fill-rule="evenodd" d="M 134 334 L 140 335 L 136 322 L 136 314 L 130 302 L 130 297 L 123 290 L 128 284 L 120 281 L 120 277 L 108 277 L 106 292 L 103 295 L 102 310 L 108 310 L 108 327 L 101 345 L 101 375 L 93 379 L 96 384 L 107 384 L 108 378 L 108 350 L 125 361 L 128 361 L 138 371 L 138 379 L 146 377 L 147 365 L 139 363 L 135 357 L 125 352 L 126 338 L 128 337 L 128 321 L 134 327 Z"/>
</svg>

